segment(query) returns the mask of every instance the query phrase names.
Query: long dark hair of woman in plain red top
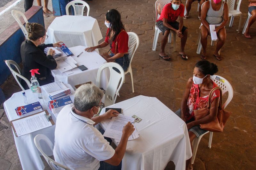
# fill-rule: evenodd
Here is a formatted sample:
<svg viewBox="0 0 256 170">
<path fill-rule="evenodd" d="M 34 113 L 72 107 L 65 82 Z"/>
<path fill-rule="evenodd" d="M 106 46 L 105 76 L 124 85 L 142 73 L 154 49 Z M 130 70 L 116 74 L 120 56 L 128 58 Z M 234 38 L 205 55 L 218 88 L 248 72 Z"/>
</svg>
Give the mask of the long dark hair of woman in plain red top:
<svg viewBox="0 0 256 170">
<path fill-rule="evenodd" d="M 108 32 L 108 37 L 110 38 L 110 41 L 114 41 L 116 36 L 120 33 L 120 31 L 123 29 L 124 30 L 124 25 L 121 21 L 121 15 L 120 13 L 115 10 L 108 10 L 106 13 L 106 19 L 110 22 L 110 28 Z M 110 37 L 110 33 L 114 31 L 114 36 Z"/>
</svg>

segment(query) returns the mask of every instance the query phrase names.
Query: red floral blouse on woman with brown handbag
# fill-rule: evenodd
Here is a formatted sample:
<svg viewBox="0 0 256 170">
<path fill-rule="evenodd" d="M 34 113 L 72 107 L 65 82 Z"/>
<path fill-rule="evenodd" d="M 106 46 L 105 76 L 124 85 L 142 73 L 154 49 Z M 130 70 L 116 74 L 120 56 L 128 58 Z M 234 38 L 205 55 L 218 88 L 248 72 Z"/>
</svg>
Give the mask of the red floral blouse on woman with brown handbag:
<svg viewBox="0 0 256 170">
<path fill-rule="evenodd" d="M 212 83 L 213 83 L 212 88 L 218 86 L 213 81 L 212 81 Z M 204 96 L 204 97 L 199 97 L 199 87 L 198 87 L 198 85 L 195 85 L 193 83 L 192 87 L 190 88 L 190 94 L 189 94 L 188 103 L 187 103 L 187 110 L 185 113 L 186 121 L 189 121 L 192 117 L 194 117 L 194 119 L 195 119 L 194 110 L 201 109 L 201 108 L 204 108 L 207 106 L 208 96 L 209 95 Z M 210 102 L 212 103 L 212 100 L 217 97 L 220 97 L 219 90 L 215 90 L 213 92 Z"/>
</svg>

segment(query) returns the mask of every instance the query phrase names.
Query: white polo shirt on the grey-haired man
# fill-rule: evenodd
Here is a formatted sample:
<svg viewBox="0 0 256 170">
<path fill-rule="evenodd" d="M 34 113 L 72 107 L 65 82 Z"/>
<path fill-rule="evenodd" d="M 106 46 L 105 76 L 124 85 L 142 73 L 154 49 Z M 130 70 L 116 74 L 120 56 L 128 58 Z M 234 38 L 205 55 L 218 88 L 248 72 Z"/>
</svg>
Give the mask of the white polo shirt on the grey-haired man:
<svg viewBox="0 0 256 170">
<path fill-rule="evenodd" d="M 115 150 L 100 131 L 92 126 L 95 122 L 76 115 L 74 109 L 74 106 L 67 105 L 57 117 L 54 158 L 70 169 L 97 170 L 100 161 L 112 158 Z"/>
</svg>

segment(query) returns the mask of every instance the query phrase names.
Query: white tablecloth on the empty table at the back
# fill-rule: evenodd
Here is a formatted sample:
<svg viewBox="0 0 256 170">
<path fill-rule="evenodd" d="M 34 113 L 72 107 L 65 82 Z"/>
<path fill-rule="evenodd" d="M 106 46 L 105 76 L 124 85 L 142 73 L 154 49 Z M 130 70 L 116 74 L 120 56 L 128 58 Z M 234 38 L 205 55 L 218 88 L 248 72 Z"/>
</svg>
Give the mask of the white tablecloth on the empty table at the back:
<svg viewBox="0 0 256 170">
<path fill-rule="evenodd" d="M 46 44 L 63 41 L 68 48 L 96 46 L 102 39 L 98 21 L 87 16 L 63 15 L 56 17 L 47 29 Z"/>
</svg>

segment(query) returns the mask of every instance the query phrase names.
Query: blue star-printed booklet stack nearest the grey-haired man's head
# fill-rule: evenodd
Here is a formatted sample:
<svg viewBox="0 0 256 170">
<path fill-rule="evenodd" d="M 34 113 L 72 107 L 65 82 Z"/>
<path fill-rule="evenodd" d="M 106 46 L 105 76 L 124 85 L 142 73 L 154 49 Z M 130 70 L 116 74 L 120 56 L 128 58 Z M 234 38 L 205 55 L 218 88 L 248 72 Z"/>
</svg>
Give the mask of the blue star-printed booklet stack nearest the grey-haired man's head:
<svg viewBox="0 0 256 170">
<path fill-rule="evenodd" d="M 49 108 L 53 114 L 58 114 L 63 107 L 69 104 L 73 105 L 69 96 L 57 100 L 51 100 L 48 102 Z"/>
</svg>

